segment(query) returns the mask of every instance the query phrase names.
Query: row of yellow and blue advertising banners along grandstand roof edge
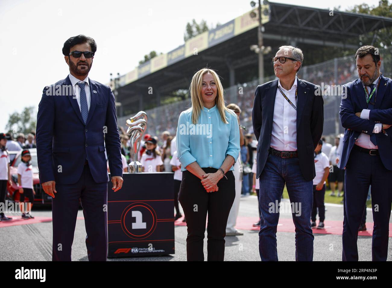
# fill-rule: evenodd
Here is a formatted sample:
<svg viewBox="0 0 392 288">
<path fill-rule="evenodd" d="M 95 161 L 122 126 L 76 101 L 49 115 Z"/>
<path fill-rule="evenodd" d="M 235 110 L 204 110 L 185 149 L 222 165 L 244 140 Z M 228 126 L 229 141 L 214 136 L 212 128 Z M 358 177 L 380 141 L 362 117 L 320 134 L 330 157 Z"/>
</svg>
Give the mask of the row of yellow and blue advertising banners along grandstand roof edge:
<svg viewBox="0 0 392 288">
<path fill-rule="evenodd" d="M 252 11 L 256 13 L 255 17 L 250 17 Z M 269 20 L 269 5 L 261 5 L 261 23 L 265 24 L 269 22 Z M 168 53 L 161 54 L 152 58 L 150 61 L 143 63 L 131 72 L 121 76 L 119 84 L 120 86 L 123 86 L 132 83 L 148 74 L 163 69 L 187 57 L 197 55 L 207 48 L 229 40 L 241 33 L 245 33 L 258 25 L 258 9 L 255 8 L 215 29 L 206 31 L 189 39 L 184 45 L 181 45 Z"/>
</svg>

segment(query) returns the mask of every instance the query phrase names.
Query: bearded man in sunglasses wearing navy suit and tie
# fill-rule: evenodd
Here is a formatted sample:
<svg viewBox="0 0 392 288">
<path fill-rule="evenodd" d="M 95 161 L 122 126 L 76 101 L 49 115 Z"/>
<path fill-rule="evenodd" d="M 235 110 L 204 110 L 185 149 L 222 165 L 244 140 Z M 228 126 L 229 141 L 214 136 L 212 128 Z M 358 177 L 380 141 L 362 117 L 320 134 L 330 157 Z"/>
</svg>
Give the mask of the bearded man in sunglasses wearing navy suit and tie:
<svg viewBox="0 0 392 288">
<path fill-rule="evenodd" d="M 88 78 L 95 51 L 93 38 L 69 38 L 63 47 L 69 75 L 45 87 L 38 106 L 39 178 L 53 197 L 53 261 L 71 261 L 79 199 L 89 261 L 106 261 L 105 144 L 114 192 L 123 183 L 114 96 L 109 86 Z"/>
</svg>

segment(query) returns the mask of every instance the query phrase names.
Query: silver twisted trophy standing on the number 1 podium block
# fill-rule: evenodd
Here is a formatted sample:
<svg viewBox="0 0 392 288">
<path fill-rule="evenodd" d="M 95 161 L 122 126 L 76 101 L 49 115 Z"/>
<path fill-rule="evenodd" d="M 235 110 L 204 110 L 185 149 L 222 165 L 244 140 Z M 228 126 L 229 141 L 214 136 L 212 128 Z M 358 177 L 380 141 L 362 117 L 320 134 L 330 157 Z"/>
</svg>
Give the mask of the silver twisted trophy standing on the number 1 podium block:
<svg viewBox="0 0 392 288">
<path fill-rule="evenodd" d="M 131 163 L 128 165 L 129 173 L 141 173 L 142 164 L 138 161 L 138 152 L 140 148 L 140 141 L 147 130 L 147 114 L 144 111 L 138 112 L 135 116 L 127 120 L 129 139 L 131 141 Z"/>
</svg>

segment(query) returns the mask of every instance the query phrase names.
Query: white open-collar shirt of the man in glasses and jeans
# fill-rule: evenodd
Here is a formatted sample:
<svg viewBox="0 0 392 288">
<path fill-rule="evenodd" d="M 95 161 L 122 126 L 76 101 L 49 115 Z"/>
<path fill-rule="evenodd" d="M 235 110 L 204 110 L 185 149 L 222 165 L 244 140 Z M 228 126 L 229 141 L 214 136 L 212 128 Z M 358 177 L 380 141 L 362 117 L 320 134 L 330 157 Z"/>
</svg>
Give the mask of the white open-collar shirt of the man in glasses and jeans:
<svg viewBox="0 0 392 288">
<path fill-rule="evenodd" d="M 289 91 L 280 85 L 280 80 L 278 80 L 278 87 L 296 105 L 295 91 L 297 89 L 297 77 Z M 276 89 L 270 146 L 279 151 L 297 150 L 297 111 L 283 97 L 279 89 Z"/>
</svg>

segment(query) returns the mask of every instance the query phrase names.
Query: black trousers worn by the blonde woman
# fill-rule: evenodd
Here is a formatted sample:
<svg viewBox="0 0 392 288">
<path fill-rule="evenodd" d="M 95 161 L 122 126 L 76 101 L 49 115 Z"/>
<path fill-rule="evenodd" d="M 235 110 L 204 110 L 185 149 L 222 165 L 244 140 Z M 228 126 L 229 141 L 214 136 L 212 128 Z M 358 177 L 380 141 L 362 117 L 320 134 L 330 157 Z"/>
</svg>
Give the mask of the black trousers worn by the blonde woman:
<svg viewBox="0 0 392 288">
<path fill-rule="evenodd" d="M 202 168 L 214 173 L 216 168 Z M 225 235 L 227 218 L 236 196 L 232 171 L 218 182 L 217 192 L 207 192 L 201 180 L 189 171 L 182 173 L 178 200 L 187 219 L 187 260 L 204 261 L 203 244 L 205 221 L 207 223 L 207 261 L 223 261 L 225 256 Z"/>
</svg>

